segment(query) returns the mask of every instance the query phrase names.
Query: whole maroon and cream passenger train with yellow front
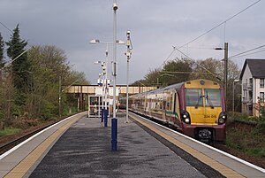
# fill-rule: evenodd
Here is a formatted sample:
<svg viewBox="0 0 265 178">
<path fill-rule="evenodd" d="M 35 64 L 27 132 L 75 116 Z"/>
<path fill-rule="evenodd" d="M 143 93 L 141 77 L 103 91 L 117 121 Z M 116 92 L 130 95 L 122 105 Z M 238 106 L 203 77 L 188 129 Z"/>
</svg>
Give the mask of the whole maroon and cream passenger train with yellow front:
<svg viewBox="0 0 265 178">
<path fill-rule="evenodd" d="M 226 104 L 216 81 L 192 80 L 132 95 L 129 109 L 203 142 L 225 141 Z"/>
</svg>

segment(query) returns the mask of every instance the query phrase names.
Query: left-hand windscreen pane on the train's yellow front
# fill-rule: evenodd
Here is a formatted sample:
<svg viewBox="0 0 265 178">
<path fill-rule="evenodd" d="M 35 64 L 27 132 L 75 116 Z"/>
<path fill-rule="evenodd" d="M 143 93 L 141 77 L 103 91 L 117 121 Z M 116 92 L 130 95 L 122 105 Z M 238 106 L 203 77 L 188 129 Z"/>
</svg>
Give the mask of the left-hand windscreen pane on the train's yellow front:
<svg viewBox="0 0 265 178">
<path fill-rule="evenodd" d="M 201 89 L 186 89 L 186 106 L 202 106 Z"/>
</svg>

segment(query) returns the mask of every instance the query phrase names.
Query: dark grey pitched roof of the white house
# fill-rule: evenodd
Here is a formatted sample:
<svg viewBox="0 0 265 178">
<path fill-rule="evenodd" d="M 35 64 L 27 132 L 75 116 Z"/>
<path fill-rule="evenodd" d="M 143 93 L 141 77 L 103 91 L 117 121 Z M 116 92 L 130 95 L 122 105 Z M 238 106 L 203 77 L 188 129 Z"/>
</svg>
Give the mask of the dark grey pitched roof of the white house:
<svg viewBox="0 0 265 178">
<path fill-rule="evenodd" d="M 254 78 L 265 78 L 265 59 L 246 58 L 240 74 L 240 80 L 242 80 L 243 74 L 245 73 L 246 64 Z"/>
</svg>

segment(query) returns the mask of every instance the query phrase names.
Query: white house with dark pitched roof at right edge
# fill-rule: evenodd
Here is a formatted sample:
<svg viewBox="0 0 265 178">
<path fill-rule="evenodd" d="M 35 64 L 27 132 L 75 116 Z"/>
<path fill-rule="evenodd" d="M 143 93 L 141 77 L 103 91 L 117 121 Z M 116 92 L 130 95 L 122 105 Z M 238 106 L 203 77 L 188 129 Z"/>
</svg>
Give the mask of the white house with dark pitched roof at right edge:
<svg viewBox="0 0 265 178">
<path fill-rule="evenodd" d="M 259 116 L 264 108 L 265 59 L 246 58 L 240 74 L 242 112 Z"/>
</svg>

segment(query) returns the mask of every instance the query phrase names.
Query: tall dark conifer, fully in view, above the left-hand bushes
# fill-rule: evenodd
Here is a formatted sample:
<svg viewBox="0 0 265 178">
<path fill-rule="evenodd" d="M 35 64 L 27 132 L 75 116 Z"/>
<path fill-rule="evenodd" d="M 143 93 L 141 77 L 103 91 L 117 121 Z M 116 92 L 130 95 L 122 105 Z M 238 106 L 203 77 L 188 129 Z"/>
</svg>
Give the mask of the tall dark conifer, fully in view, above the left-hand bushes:
<svg viewBox="0 0 265 178">
<path fill-rule="evenodd" d="M 11 58 L 11 60 L 17 58 L 21 53 L 25 51 L 25 47 L 27 46 L 27 42 L 25 40 L 20 39 L 19 35 L 19 25 L 13 30 L 13 34 L 11 35 L 11 40 L 6 43 L 7 48 L 7 56 Z M 27 52 L 21 55 L 19 58 L 14 60 L 11 64 L 11 74 L 13 78 L 13 84 L 15 89 L 17 90 L 18 97 L 16 98 L 16 103 L 21 105 L 25 102 L 25 93 L 29 88 L 30 72 L 31 66 L 27 60 Z"/>
</svg>

